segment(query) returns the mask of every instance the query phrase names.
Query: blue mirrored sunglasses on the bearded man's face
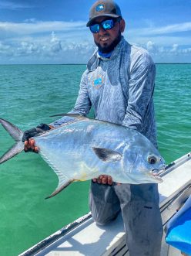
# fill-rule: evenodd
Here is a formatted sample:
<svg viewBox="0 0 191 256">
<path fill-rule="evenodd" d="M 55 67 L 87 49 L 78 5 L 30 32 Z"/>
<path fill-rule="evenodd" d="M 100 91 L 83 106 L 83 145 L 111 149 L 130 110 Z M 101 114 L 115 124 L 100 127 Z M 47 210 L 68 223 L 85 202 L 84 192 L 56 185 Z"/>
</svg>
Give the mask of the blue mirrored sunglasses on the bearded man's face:
<svg viewBox="0 0 191 256">
<path fill-rule="evenodd" d="M 102 29 L 104 30 L 109 30 L 112 29 L 115 25 L 116 22 L 120 22 L 122 18 L 118 18 L 118 19 L 106 19 L 103 22 L 100 23 L 95 23 L 92 24 L 91 26 L 89 26 L 89 29 L 91 30 L 92 33 L 98 33 L 100 30 L 100 26 L 102 27 Z"/>
</svg>

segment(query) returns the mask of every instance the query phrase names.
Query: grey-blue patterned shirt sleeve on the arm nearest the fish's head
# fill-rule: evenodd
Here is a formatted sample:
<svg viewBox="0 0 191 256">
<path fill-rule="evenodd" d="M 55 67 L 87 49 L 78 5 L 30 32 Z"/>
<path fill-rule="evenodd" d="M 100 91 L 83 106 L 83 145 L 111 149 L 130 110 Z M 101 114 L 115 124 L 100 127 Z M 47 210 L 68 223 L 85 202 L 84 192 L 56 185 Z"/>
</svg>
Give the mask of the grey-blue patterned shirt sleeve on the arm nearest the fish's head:
<svg viewBox="0 0 191 256">
<path fill-rule="evenodd" d="M 155 77 L 156 67 L 149 53 L 139 54 L 130 67 L 129 100 L 122 125 L 142 130 L 142 121 L 152 101 Z"/>
</svg>

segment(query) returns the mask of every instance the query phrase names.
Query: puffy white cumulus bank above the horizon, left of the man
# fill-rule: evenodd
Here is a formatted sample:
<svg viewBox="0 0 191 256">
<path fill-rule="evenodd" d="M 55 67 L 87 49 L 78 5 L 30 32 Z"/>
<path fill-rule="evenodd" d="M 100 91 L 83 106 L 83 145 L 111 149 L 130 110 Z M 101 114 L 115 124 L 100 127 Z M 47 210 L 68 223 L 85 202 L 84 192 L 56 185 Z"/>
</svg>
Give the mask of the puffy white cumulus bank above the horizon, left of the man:
<svg viewBox="0 0 191 256">
<path fill-rule="evenodd" d="M 0 42 L 1 63 L 86 63 L 95 46 L 89 40 L 67 42 L 55 32 L 45 39 L 30 37 L 14 43 Z"/>
</svg>

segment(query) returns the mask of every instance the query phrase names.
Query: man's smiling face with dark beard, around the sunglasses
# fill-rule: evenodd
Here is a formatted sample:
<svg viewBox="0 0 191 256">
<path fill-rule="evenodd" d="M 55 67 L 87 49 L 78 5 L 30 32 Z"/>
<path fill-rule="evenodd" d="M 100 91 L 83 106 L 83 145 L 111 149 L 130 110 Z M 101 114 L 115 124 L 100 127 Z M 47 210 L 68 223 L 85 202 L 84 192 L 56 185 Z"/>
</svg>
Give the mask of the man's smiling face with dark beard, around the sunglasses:
<svg viewBox="0 0 191 256">
<path fill-rule="evenodd" d="M 110 17 L 98 17 L 95 19 L 94 23 L 100 23 L 106 19 L 111 19 Z M 121 24 L 122 22 L 122 24 Z M 116 22 L 115 26 L 112 29 L 104 30 L 100 26 L 99 32 L 92 33 L 94 42 L 98 46 L 99 51 L 102 53 L 109 53 L 116 47 L 121 39 L 121 32 L 125 29 L 125 22 L 121 20 Z"/>
</svg>

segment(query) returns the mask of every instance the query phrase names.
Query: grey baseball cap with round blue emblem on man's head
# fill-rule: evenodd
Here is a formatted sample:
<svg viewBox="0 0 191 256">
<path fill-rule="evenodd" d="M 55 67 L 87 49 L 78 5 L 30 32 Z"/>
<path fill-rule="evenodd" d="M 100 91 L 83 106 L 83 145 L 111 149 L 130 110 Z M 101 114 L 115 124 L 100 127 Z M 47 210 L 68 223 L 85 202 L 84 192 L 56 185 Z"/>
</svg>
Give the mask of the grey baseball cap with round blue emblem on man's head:
<svg viewBox="0 0 191 256">
<path fill-rule="evenodd" d="M 108 16 L 112 18 L 122 17 L 119 5 L 112 0 L 96 1 L 89 11 L 89 22 L 86 26 L 90 26 L 97 17 Z"/>
</svg>

